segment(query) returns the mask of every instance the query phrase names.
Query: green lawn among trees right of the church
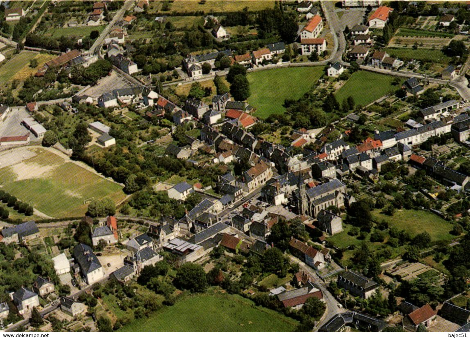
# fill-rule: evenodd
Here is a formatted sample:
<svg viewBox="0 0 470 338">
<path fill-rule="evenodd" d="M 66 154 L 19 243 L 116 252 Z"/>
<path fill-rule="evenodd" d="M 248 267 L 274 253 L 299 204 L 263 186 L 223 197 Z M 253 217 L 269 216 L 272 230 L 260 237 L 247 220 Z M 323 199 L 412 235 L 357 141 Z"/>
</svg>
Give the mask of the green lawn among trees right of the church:
<svg viewBox="0 0 470 338">
<path fill-rule="evenodd" d="M 372 214 L 377 221 L 385 220 L 391 226 L 407 231 L 411 236 L 427 231 L 431 235 L 432 241 L 455 238 L 454 235 L 449 233 L 453 228 L 452 223 L 443 220 L 430 211 L 400 209 L 395 211 L 393 216 L 387 216 L 381 214 L 380 210 L 375 210 Z"/>
</svg>

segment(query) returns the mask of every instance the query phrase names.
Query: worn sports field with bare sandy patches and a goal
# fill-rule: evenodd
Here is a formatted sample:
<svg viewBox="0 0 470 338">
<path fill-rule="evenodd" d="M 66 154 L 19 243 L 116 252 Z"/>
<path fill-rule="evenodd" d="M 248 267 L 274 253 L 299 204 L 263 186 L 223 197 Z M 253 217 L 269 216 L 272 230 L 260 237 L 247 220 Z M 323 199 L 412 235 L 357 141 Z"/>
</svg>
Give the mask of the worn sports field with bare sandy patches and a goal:
<svg viewBox="0 0 470 338">
<path fill-rule="evenodd" d="M 87 199 L 125 197 L 119 184 L 46 149 L 18 148 L 0 156 L 0 165 L 2 189 L 51 217 L 83 216 Z"/>
</svg>

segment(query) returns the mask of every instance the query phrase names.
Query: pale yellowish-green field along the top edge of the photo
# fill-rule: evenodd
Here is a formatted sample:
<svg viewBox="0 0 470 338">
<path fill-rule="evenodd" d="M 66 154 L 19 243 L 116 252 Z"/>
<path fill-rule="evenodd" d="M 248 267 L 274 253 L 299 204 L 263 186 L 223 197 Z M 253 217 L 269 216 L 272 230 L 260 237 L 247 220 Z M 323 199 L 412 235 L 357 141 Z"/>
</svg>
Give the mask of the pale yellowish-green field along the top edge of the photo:
<svg viewBox="0 0 470 338">
<path fill-rule="evenodd" d="M 205 1 L 200 4 L 198 1 L 177 0 L 171 5 L 170 11 L 172 12 L 195 12 L 204 11 L 209 14 L 210 12 L 238 12 L 243 8 L 248 7 L 248 10 L 258 11 L 266 8 L 273 8 L 274 1 L 272 0 L 251 0 L 251 1 L 221 1 L 211 0 Z"/>
</svg>

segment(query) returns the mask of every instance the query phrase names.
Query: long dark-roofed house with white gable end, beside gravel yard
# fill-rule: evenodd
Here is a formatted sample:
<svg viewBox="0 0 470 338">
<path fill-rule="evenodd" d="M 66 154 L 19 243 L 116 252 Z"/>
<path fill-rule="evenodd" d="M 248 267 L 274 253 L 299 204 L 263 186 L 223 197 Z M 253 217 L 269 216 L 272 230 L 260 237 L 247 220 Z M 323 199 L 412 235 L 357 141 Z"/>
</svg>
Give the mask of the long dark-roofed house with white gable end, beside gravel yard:
<svg viewBox="0 0 470 338">
<path fill-rule="evenodd" d="M 105 277 L 103 267 L 91 247 L 78 244 L 73 248 L 73 256 L 86 284 L 92 285 Z"/>
</svg>

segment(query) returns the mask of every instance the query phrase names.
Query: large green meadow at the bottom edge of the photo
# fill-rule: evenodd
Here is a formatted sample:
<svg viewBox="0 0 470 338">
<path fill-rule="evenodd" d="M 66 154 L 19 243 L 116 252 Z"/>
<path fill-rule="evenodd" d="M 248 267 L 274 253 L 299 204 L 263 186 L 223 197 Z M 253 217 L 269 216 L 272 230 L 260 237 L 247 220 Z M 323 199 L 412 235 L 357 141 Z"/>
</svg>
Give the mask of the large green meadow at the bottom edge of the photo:
<svg viewBox="0 0 470 338">
<path fill-rule="evenodd" d="M 120 332 L 290 332 L 297 321 L 239 295 L 202 294 L 123 326 Z"/>
</svg>

